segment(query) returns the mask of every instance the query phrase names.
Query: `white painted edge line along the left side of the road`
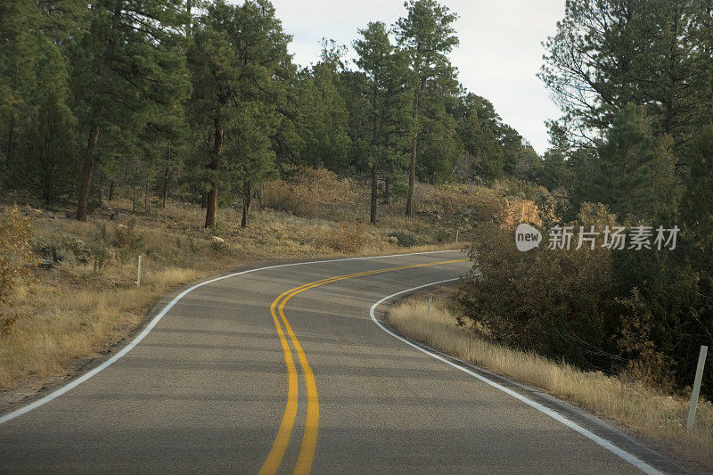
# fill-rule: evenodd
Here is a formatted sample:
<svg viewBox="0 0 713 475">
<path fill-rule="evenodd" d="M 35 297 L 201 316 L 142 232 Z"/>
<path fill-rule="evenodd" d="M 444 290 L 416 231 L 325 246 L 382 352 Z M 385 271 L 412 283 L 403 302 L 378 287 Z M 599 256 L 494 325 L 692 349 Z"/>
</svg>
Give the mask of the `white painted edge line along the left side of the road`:
<svg viewBox="0 0 713 475">
<path fill-rule="evenodd" d="M 23 405 L 19 409 L 15 409 L 12 411 L 12 413 L 4 414 L 3 416 L 0 416 L 0 424 L 4 424 L 4 422 L 12 421 L 12 419 L 15 419 L 16 417 L 20 417 L 22 414 L 28 414 L 30 411 L 37 409 L 37 407 L 40 407 L 42 405 L 47 404 L 48 402 L 52 401 L 53 399 L 56 399 L 57 397 L 60 397 L 62 394 L 70 391 L 71 389 L 77 388 L 81 383 L 87 381 L 89 378 L 95 376 L 98 373 L 101 373 L 103 370 L 107 369 L 111 364 L 116 363 L 119 361 L 119 358 L 122 356 L 126 355 L 129 351 L 135 348 L 136 345 L 138 345 L 141 340 L 146 338 L 146 335 L 148 335 L 152 330 L 153 327 L 156 326 L 157 323 L 160 322 L 161 318 L 163 318 L 166 314 L 168 314 L 168 311 L 173 308 L 180 299 L 183 299 L 186 295 L 191 293 L 192 291 L 195 291 L 199 287 L 202 287 L 203 285 L 207 285 L 209 283 L 214 283 L 217 281 L 222 281 L 224 279 L 229 279 L 231 277 L 235 277 L 237 275 L 242 275 L 242 274 L 251 274 L 253 272 L 258 272 L 262 270 L 267 270 L 267 269 L 275 269 L 278 267 L 291 267 L 291 266 L 307 266 L 309 264 L 323 264 L 326 262 L 340 262 L 340 261 L 345 261 L 345 260 L 365 260 L 365 259 L 378 259 L 378 258 L 397 258 L 401 256 L 414 256 L 417 254 L 437 254 L 438 252 L 461 252 L 461 250 L 429 250 L 425 252 L 409 252 L 406 254 L 389 254 L 388 256 L 367 256 L 364 258 L 339 258 L 339 259 L 324 259 L 324 260 L 313 260 L 313 261 L 307 261 L 307 262 L 292 262 L 290 264 L 279 264 L 275 266 L 265 266 L 265 267 L 258 267 L 255 269 L 248 269 L 242 272 L 236 272 L 234 274 L 227 274 L 223 275 L 221 277 L 217 277 L 215 279 L 210 279 L 209 281 L 201 282 L 201 283 L 196 283 L 193 285 L 193 287 L 186 289 L 185 291 L 182 291 L 179 293 L 175 299 L 171 300 L 166 307 L 163 307 L 161 311 L 159 312 L 158 315 L 154 316 L 152 321 L 149 322 L 148 325 L 146 325 L 146 328 L 143 329 L 141 333 L 139 333 L 134 340 L 131 340 L 131 342 L 124 348 L 121 348 L 119 353 L 117 353 L 114 356 L 111 356 L 108 360 L 100 364 L 99 366 L 95 367 L 93 370 L 84 373 L 80 377 L 78 377 L 76 380 L 69 382 L 65 386 L 62 386 L 60 389 L 56 389 L 50 394 L 48 394 L 45 397 L 41 397 L 40 399 L 37 399 L 37 401 L 34 401 L 30 403 L 29 405 Z"/>
</svg>

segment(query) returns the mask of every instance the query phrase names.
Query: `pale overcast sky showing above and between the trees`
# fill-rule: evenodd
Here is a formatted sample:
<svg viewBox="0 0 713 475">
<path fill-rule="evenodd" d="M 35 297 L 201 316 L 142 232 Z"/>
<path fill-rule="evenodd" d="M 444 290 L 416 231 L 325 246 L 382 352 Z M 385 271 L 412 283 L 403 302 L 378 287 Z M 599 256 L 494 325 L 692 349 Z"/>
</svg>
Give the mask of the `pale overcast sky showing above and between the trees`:
<svg viewBox="0 0 713 475">
<path fill-rule="evenodd" d="M 560 113 L 537 77 L 544 53 L 540 42 L 553 35 L 564 0 L 441 0 L 460 15 L 461 45 L 451 54 L 469 91 L 493 102 L 503 120 L 532 143 L 548 146 L 545 119 Z M 391 25 L 406 12 L 403 0 L 273 0 L 283 28 L 294 38 L 290 52 L 302 66 L 316 62 L 322 37 L 351 45 L 369 21 Z M 354 67 L 352 65 L 352 67 Z"/>
</svg>

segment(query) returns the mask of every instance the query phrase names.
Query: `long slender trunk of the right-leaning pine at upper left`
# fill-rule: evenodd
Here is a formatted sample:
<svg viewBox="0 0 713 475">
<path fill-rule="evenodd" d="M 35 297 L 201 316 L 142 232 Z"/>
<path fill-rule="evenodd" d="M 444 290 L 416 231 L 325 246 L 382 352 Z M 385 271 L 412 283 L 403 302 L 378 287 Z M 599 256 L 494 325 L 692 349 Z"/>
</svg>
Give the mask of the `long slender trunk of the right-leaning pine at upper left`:
<svg viewBox="0 0 713 475">
<path fill-rule="evenodd" d="M 117 0 L 114 4 L 114 14 L 111 19 L 111 33 L 109 36 L 109 44 L 106 46 L 104 61 L 102 64 L 102 76 L 99 79 L 97 93 L 100 97 L 104 94 L 104 87 L 109 83 L 109 75 L 111 73 L 111 61 L 114 59 L 114 52 L 117 47 L 116 30 L 119 29 L 119 20 L 121 17 L 121 5 L 123 0 Z M 79 186 L 79 201 L 77 205 L 77 219 L 86 221 L 86 211 L 89 208 L 89 188 L 92 184 L 92 172 L 94 168 L 94 149 L 99 138 L 99 120 L 102 118 L 102 108 L 98 104 L 94 104 L 92 108 L 92 127 L 89 129 L 89 138 L 86 141 L 86 152 L 84 156 L 84 172 L 82 173 L 82 182 Z"/>
</svg>

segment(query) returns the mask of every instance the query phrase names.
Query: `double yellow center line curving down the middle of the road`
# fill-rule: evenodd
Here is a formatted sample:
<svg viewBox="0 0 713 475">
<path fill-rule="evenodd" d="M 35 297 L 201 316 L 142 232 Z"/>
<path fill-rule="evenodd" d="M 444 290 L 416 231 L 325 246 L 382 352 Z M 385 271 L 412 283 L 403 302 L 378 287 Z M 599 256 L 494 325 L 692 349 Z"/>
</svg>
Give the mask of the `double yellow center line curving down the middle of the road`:
<svg viewBox="0 0 713 475">
<path fill-rule="evenodd" d="M 287 366 L 287 405 L 283 414 L 283 421 L 280 423 L 280 429 L 277 431 L 277 436 L 275 436 L 275 442 L 273 443 L 270 453 L 267 455 L 266 461 L 260 469 L 260 475 L 272 475 L 277 472 L 280 467 L 280 463 L 283 461 L 283 456 L 287 450 L 287 446 L 290 443 L 290 436 L 292 433 L 292 427 L 294 426 L 295 417 L 297 416 L 297 403 L 298 403 L 298 377 L 297 377 L 297 367 L 295 366 L 294 359 L 292 357 L 292 351 L 290 348 L 290 343 L 285 337 L 285 332 L 290 337 L 292 345 L 297 352 L 299 357 L 299 364 L 302 366 L 302 373 L 305 375 L 305 381 L 307 383 L 307 421 L 305 422 L 305 431 L 302 435 L 302 444 L 299 447 L 299 455 L 297 457 L 297 463 L 295 465 L 295 474 L 309 473 L 312 468 L 312 461 L 315 458 L 315 450 L 317 444 L 317 429 L 319 426 L 319 398 L 317 397 L 317 385 L 315 381 L 315 374 L 312 373 L 312 368 L 307 362 L 307 355 L 305 355 L 302 345 L 299 344 L 297 336 L 292 331 L 290 322 L 287 321 L 287 317 L 284 315 L 284 306 L 287 302 L 297 295 L 299 292 L 308 291 L 309 289 L 314 289 L 325 283 L 333 283 L 338 281 L 343 281 L 346 279 L 351 279 L 353 277 L 359 277 L 362 275 L 371 274 L 382 274 L 385 272 L 393 272 L 402 269 L 413 269 L 415 267 L 427 267 L 427 266 L 438 266 L 442 264 L 452 264 L 455 262 L 463 262 L 468 259 L 452 259 L 443 260 L 439 262 L 430 262 L 427 264 L 414 264 L 412 266 L 397 266 L 389 267 L 385 269 L 378 269 L 366 272 L 357 272 L 354 274 L 344 274 L 338 275 L 336 277 L 329 277 L 321 281 L 316 281 L 313 283 L 306 283 L 295 287 L 289 291 L 284 291 L 281 293 L 273 303 L 270 305 L 270 314 L 275 322 L 275 329 L 277 330 L 277 335 L 280 337 L 280 343 L 283 346 L 284 362 Z M 278 318 L 279 315 L 279 318 Z M 280 323 L 282 321 L 282 324 Z"/>
</svg>

